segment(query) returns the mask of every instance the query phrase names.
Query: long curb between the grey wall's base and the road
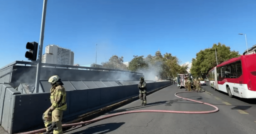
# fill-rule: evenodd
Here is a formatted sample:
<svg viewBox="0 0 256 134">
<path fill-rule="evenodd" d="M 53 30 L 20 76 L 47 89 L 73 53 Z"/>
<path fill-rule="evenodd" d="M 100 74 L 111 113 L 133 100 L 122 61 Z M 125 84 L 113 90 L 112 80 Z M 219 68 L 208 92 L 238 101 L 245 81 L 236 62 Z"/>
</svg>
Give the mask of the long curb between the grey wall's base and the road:
<svg viewBox="0 0 256 134">
<path fill-rule="evenodd" d="M 147 92 L 147 95 L 150 95 L 156 91 L 159 91 L 167 86 L 170 86 L 172 84 L 168 84 L 168 85 L 165 85 L 165 86 L 162 86 L 162 87 L 159 87 L 155 90 L 152 90 L 150 92 Z M 89 121 L 89 120 L 92 120 L 93 118 L 96 118 L 96 117 L 99 117 L 113 109 L 116 109 L 116 108 L 119 108 L 119 107 L 122 107 L 124 105 L 127 105 L 135 100 L 139 99 L 139 96 L 135 96 L 135 97 L 132 97 L 132 98 L 129 98 L 129 99 L 126 99 L 126 100 L 123 100 L 121 102 L 118 102 L 118 103 L 115 103 L 113 105 L 110 105 L 110 106 L 107 106 L 107 107 L 104 107 L 104 108 L 101 108 L 101 109 L 98 109 L 98 110 L 94 110 L 94 111 L 91 111 L 91 112 L 88 112 L 86 114 L 82 114 L 80 116 L 78 116 L 78 118 L 76 120 L 73 120 L 73 121 L 70 121 L 70 122 L 67 122 L 65 124 L 72 124 L 72 123 L 78 123 L 78 122 L 82 122 L 82 121 Z"/>
</svg>

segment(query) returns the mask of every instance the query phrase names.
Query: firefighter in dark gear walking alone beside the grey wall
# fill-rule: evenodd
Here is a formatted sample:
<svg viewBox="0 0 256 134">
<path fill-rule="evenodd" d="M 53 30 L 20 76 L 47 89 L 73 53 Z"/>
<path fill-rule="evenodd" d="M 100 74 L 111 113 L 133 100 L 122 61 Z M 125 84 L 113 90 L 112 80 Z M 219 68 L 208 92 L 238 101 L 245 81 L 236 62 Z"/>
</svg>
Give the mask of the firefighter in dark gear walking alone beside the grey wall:
<svg viewBox="0 0 256 134">
<path fill-rule="evenodd" d="M 138 84 L 139 93 L 140 93 L 140 99 L 141 99 L 141 105 L 145 106 L 147 104 L 146 99 L 146 92 L 147 92 L 147 84 L 144 81 L 144 78 L 140 78 L 140 83 Z"/>
</svg>

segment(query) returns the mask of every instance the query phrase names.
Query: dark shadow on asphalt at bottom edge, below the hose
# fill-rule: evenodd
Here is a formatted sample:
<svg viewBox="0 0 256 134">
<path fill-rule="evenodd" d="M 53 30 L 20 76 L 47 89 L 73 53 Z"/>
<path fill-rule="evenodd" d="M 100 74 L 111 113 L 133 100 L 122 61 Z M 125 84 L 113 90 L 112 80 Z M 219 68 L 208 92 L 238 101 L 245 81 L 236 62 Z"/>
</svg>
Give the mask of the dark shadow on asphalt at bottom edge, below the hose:
<svg viewBox="0 0 256 134">
<path fill-rule="evenodd" d="M 103 134 L 103 133 L 108 133 L 113 130 L 116 130 L 119 127 L 121 127 L 123 124 L 125 123 L 120 122 L 120 123 L 101 124 L 101 125 L 96 125 L 96 126 L 86 128 L 78 132 L 74 132 L 73 134 L 93 134 L 93 133 Z"/>
</svg>

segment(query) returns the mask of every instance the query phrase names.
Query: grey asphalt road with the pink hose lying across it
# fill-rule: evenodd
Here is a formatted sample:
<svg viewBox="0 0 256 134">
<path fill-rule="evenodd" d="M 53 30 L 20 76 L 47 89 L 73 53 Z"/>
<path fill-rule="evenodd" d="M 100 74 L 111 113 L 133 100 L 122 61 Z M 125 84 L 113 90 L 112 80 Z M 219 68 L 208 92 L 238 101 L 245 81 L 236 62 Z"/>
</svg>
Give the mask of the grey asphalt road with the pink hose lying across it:
<svg viewBox="0 0 256 134">
<path fill-rule="evenodd" d="M 202 86 L 214 95 L 202 93 L 180 93 L 179 96 L 213 104 L 219 108 L 210 114 L 179 113 L 131 113 L 104 119 L 86 126 L 65 131 L 65 134 L 255 134 L 255 110 L 251 106 L 247 110 L 234 109 L 239 106 L 250 106 L 236 98 L 214 91 L 209 86 Z M 131 110 L 177 110 L 177 111 L 210 111 L 213 107 L 177 98 L 176 92 L 185 91 L 171 85 L 147 96 L 147 105 L 141 106 L 136 100 L 105 115 Z M 218 97 L 219 96 L 219 97 Z M 220 98 L 225 98 L 223 100 Z M 231 100 L 231 101 L 229 101 Z M 238 103 L 239 102 L 239 103 Z M 236 104 L 236 105 L 232 105 Z M 242 112 L 244 111 L 244 112 Z M 105 116 L 103 115 L 103 116 Z"/>
</svg>

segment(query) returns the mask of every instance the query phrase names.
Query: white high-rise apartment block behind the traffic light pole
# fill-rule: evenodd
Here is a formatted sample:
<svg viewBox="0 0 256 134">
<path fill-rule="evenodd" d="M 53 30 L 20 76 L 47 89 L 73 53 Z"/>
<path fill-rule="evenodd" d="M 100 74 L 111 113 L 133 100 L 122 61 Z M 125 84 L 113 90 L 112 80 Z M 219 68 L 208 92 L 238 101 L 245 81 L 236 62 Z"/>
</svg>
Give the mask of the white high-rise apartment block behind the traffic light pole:
<svg viewBox="0 0 256 134">
<path fill-rule="evenodd" d="M 54 44 L 45 47 L 45 54 L 42 55 L 42 63 L 74 65 L 74 52 Z"/>
</svg>

